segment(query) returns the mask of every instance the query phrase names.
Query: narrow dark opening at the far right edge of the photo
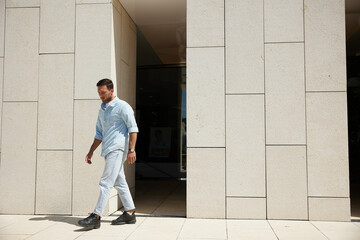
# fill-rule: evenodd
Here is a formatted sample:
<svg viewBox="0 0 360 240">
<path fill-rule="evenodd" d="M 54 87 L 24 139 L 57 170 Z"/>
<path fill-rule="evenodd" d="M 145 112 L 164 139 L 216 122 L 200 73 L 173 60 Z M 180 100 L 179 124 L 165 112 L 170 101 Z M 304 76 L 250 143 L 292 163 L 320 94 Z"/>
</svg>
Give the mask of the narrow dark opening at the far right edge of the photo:
<svg viewBox="0 0 360 240">
<path fill-rule="evenodd" d="M 346 1 L 346 61 L 351 216 L 360 217 L 360 3 Z"/>
</svg>

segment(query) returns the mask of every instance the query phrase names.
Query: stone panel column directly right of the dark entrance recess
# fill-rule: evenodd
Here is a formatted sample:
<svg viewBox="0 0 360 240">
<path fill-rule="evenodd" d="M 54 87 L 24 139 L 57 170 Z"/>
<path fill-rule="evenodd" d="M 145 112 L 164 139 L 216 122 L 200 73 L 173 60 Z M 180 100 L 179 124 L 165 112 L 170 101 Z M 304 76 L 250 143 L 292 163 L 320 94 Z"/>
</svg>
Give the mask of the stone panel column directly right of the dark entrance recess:
<svg viewBox="0 0 360 240">
<path fill-rule="evenodd" d="M 225 218 L 223 1 L 187 1 L 187 59 L 187 217 Z"/>
</svg>

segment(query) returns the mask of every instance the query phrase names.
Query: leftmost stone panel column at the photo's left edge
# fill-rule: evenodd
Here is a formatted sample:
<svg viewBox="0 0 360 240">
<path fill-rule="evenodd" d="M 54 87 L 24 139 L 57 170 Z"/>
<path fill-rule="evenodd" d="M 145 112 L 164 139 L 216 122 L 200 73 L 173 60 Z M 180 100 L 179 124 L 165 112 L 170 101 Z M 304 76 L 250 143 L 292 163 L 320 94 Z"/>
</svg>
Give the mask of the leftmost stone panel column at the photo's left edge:
<svg viewBox="0 0 360 240">
<path fill-rule="evenodd" d="M 5 10 L 5 14 L 1 15 L 5 20 L 2 21 L 5 22 L 5 34 L 1 36 L 5 37 L 5 44 L 1 46 L 4 79 L 0 212 L 33 214 L 38 112 L 39 3 L 7 1 L 6 6 L 2 4 L 1 8 L 2 14 Z M 23 24 L 24 22 L 27 24 Z"/>
</svg>

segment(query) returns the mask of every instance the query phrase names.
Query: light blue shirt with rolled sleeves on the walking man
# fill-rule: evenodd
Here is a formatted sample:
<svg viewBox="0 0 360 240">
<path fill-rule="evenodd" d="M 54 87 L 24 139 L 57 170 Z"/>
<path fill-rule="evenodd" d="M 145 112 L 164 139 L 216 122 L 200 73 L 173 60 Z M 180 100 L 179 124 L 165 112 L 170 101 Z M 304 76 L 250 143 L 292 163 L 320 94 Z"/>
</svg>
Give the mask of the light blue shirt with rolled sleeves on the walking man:
<svg viewBox="0 0 360 240">
<path fill-rule="evenodd" d="M 95 138 L 102 141 L 101 156 L 111 151 L 125 150 L 131 132 L 139 132 L 131 106 L 115 97 L 102 103 L 96 122 Z"/>
</svg>

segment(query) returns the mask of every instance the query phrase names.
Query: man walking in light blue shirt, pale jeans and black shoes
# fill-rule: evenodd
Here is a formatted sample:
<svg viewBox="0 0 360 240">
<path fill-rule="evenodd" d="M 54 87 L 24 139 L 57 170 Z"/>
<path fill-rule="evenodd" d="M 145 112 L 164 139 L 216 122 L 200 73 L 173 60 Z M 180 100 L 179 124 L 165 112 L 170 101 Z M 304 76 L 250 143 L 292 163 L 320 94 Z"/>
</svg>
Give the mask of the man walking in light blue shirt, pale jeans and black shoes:
<svg viewBox="0 0 360 240">
<path fill-rule="evenodd" d="M 138 127 L 131 106 L 114 96 L 114 85 L 110 79 L 102 79 L 97 84 L 102 104 L 96 123 L 94 142 L 85 157 L 91 164 L 95 149 L 102 143 L 101 156 L 105 157 L 105 168 L 100 179 L 100 195 L 93 213 L 79 221 L 83 227 L 100 228 L 100 220 L 112 187 L 119 193 L 124 213 L 112 221 L 114 225 L 136 222 L 135 205 L 126 183 L 124 162 L 136 161 L 135 143 Z"/>
</svg>

